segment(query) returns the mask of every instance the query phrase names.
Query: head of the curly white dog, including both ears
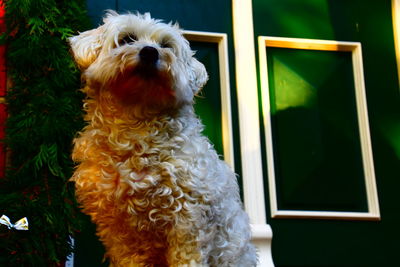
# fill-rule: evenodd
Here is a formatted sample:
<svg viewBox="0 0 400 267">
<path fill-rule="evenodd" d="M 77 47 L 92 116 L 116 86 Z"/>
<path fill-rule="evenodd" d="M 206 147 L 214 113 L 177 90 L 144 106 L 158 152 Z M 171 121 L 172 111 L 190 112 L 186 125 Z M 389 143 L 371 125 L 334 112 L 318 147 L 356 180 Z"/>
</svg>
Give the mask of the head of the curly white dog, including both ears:
<svg viewBox="0 0 400 267">
<path fill-rule="evenodd" d="M 89 87 L 126 105 L 154 109 L 192 103 L 208 79 L 178 26 L 148 13 L 109 11 L 103 25 L 69 42 Z"/>
</svg>

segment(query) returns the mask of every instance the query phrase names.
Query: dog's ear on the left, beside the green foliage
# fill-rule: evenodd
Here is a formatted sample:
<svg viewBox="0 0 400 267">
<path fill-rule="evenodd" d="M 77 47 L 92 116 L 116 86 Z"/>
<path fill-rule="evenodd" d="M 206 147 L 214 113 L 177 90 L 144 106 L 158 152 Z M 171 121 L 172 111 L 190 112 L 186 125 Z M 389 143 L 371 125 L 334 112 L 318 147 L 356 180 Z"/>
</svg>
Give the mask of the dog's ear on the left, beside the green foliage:
<svg viewBox="0 0 400 267">
<path fill-rule="evenodd" d="M 102 47 L 103 27 L 68 38 L 72 54 L 79 68 L 86 69 L 96 60 Z"/>
</svg>

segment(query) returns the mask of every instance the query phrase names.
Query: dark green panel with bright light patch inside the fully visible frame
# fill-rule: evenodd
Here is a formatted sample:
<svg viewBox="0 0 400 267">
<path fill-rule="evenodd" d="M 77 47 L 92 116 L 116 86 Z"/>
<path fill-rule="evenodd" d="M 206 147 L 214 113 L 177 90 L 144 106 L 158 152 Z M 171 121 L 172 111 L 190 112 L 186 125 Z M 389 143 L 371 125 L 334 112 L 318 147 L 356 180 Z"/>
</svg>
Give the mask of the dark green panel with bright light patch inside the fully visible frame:
<svg viewBox="0 0 400 267">
<path fill-rule="evenodd" d="M 351 53 L 267 55 L 278 209 L 368 211 Z"/>
</svg>

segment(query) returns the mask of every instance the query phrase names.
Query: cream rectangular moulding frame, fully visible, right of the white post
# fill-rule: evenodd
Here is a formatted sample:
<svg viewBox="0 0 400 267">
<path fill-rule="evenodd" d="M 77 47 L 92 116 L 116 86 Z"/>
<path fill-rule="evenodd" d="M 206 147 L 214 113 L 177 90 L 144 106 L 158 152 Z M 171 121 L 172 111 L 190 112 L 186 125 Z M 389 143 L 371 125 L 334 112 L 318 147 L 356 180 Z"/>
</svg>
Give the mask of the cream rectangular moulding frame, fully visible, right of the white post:
<svg viewBox="0 0 400 267">
<path fill-rule="evenodd" d="M 365 96 L 365 83 L 361 43 L 342 42 L 330 40 L 315 40 L 301 38 L 283 38 L 259 36 L 259 60 L 262 110 L 264 115 L 266 154 L 268 165 L 269 200 L 272 218 L 313 218 L 313 219 L 349 219 L 349 220 L 380 220 L 379 201 L 375 179 L 372 146 L 369 132 L 367 102 Z M 357 119 L 360 132 L 361 156 L 364 170 L 364 180 L 367 194 L 368 212 L 343 212 L 343 211 L 308 211 L 308 210 L 280 210 L 278 208 L 276 193 L 276 177 L 272 142 L 272 126 L 270 112 L 270 96 L 268 84 L 268 47 L 305 49 L 316 51 L 351 52 L 354 76 L 354 88 L 357 107 Z"/>
</svg>

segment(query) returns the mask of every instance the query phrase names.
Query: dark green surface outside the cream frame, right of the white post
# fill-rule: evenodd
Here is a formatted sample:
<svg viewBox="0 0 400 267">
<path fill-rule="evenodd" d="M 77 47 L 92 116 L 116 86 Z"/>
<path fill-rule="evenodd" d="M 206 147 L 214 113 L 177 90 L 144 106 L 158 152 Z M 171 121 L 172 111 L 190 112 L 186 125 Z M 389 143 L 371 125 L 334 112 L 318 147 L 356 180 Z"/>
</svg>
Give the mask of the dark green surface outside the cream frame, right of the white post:
<svg viewBox="0 0 400 267">
<path fill-rule="evenodd" d="M 256 38 L 266 35 L 361 42 L 382 217 L 381 221 L 271 219 L 266 203 L 276 266 L 398 265 L 400 99 L 391 12 L 390 0 L 253 1 Z M 307 66 L 304 69 L 306 72 Z M 341 105 L 335 101 L 331 104 Z M 262 142 L 264 148 L 265 140 Z"/>
</svg>

